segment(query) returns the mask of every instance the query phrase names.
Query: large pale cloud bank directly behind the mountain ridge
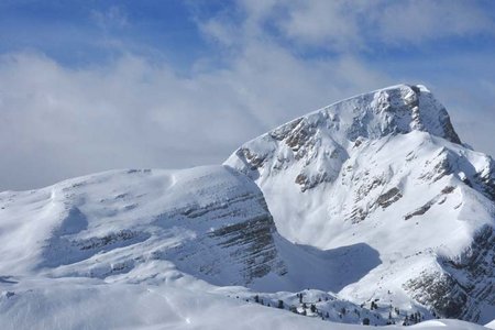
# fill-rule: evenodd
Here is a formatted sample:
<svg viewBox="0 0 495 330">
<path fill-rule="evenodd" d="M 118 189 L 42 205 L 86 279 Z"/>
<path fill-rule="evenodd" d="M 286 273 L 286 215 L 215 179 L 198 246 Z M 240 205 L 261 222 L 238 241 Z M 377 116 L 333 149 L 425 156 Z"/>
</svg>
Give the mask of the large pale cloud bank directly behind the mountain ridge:
<svg viewBox="0 0 495 330">
<path fill-rule="evenodd" d="M 353 61 L 305 63 L 257 43 L 228 68 L 191 77 L 131 55 L 85 69 L 36 54 L 3 56 L 0 153 L 9 161 L 0 163 L 0 187 L 114 167 L 221 163 L 270 128 L 371 88 L 376 81 L 366 75 Z"/>
</svg>

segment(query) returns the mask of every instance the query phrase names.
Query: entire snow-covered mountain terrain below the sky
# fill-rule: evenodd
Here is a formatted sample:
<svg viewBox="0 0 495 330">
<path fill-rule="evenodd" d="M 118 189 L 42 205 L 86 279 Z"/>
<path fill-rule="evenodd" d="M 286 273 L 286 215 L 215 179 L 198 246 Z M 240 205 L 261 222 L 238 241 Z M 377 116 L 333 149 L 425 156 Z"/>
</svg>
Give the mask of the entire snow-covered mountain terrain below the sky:
<svg viewBox="0 0 495 330">
<path fill-rule="evenodd" d="M 494 227 L 493 160 L 394 86 L 223 165 L 0 193 L 0 329 L 486 329 L 430 319 L 495 319 Z"/>
</svg>

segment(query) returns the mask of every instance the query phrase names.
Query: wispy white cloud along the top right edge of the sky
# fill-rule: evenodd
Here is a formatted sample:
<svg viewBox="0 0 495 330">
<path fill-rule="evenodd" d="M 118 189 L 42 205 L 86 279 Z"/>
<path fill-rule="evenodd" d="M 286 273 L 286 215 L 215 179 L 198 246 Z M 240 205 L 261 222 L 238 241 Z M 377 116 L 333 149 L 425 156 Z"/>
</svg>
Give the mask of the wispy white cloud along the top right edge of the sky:
<svg viewBox="0 0 495 330">
<path fill-rule="evenodd" d="M 493 15 L 476 1 L 250 1 L 246 22 L 272 23 L 285 37 L 334 52 L 356 52 L 376 42 L 419 45 L 443 37 L 495 34 Z M 252 30 L 255 30 L 252 28 Z"/>
</svg>

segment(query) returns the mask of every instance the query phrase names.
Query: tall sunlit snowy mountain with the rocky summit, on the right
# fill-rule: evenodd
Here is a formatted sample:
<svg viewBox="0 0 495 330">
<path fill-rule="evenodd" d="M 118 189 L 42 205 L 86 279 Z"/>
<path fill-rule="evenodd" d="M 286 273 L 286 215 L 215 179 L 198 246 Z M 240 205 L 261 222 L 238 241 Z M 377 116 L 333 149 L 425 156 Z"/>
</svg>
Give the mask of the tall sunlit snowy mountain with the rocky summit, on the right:
<svg viewBox="0 0 495 330">
<path fill-rule="evenodd" d="M 495 315 L 486 288 L 494 162 L 462 145 L 427 88 L 333 103 L 245 143 L 226 164 L 256 182 L 290 241 L 380 252 L 381 265 L 340 292 L 349 299 L 410 301 L 477 322 Z"/>
</svg>

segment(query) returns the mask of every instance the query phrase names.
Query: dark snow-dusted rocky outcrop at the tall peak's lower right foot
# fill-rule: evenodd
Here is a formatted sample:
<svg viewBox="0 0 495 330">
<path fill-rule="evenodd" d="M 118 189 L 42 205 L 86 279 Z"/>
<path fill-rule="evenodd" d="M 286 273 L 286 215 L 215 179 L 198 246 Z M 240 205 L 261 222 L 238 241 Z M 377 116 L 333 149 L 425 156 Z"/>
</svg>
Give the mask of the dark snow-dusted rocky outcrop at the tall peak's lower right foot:
<svg viewBox="0 0 495 330">
<path fill-rule="evenodd" d="M 441 272 L 424 272 L 405 288 L 436 315 L 477 322 L 495 308 L 495 231 L 484 227 L 455 258 L 439 257 Z M 490 311 L 488 311 L 490 312 Z M 486 317 L 486 315 L 485 315 Z"/>
</svg>

